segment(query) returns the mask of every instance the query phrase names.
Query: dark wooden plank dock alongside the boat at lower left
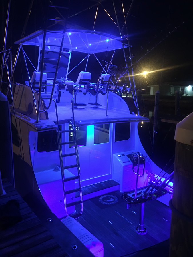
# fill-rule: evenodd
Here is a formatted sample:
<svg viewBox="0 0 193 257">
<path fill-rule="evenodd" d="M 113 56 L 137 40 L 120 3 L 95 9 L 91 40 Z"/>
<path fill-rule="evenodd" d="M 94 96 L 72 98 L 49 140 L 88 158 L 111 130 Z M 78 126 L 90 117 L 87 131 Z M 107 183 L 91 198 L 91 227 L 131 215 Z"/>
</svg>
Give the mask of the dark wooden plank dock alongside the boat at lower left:
<svg viewBox="0 0 193 257">
<path fill-rule="evenodd" d="M 4 181 L 3 188 L 7 194 L 0 196 L 0 208 L 9 200 L 17 200 L 20 204 L 22 221 L 3 229 L 1 219 L 0 255 L 2 257 L 68 256 L 11 183 Z"/>
</svg>

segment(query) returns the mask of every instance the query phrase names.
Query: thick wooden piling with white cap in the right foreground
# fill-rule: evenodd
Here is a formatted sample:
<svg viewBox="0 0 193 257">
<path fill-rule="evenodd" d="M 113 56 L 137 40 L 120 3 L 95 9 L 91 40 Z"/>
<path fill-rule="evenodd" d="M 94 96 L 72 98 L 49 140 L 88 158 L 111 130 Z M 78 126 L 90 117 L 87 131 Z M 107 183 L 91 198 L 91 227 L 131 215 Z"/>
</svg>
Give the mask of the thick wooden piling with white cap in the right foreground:
<svg viewBox="0 0 193 257">
<path fill-rule="evenodd" d="M 188 119 L 187 119 L 188 118 Z M 193 253 L 193 113 L 176 125 L 169 257 Z"/>
</svg>

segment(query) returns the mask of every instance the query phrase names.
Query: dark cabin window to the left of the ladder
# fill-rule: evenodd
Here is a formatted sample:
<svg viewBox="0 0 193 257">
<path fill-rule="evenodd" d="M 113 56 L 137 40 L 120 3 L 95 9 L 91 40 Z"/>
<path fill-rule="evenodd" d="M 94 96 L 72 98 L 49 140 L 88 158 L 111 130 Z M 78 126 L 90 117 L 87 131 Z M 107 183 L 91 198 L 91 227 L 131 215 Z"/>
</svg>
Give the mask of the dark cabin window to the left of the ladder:
<svg viewBox="0 0 193 257">
<path fill-rule="evenodd" d="M 38 132 L 37 134 L 37 151 L 51 152 L 58 150 L 56 130 Z"/>
</svg>

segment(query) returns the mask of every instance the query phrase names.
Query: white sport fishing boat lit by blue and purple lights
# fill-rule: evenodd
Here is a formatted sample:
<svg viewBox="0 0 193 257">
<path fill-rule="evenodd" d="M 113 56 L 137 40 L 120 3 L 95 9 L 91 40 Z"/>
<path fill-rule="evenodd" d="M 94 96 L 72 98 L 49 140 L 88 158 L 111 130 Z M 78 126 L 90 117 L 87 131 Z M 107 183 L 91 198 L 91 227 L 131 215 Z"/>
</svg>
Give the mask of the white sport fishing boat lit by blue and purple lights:
<svg viewBox="0 0 193 257">
<path fill-rule="evenodd" d="M 69 244 L 72 232 L 94 256 L 123 256 L 167 240 L 172 176 L 138 135 L 149 120 L 139 113 L 128 36 L 118 19 L 119 36 L 77 27 L 67 7 L 48 9 L 45 29 L 15 42 L 8 73 L 15 188 L 56 238 L 69 229 L 60 244 Z M 114 63 L 117 52 L 125 66 Z M 18 60 L 23 77 L 13 83 Z M 70 249 L 81 256 L 77 244 Z"/>
</svg>

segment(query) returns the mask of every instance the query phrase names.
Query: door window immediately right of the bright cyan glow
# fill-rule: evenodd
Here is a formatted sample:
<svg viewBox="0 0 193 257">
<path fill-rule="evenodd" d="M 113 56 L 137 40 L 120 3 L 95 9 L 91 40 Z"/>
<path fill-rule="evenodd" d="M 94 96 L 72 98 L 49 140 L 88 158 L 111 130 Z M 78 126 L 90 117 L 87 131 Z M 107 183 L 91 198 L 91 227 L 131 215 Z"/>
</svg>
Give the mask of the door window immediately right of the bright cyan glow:
<svg viewBox="0 0 193 257">
<path fill-rule="evenodd" d="M 109 123 L 94 125 L 94 144 L 109 142 Z"/>
</svg>

